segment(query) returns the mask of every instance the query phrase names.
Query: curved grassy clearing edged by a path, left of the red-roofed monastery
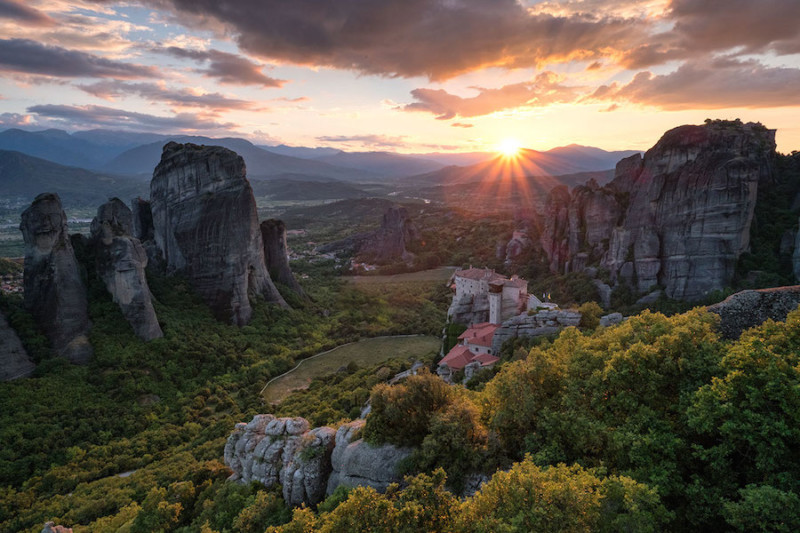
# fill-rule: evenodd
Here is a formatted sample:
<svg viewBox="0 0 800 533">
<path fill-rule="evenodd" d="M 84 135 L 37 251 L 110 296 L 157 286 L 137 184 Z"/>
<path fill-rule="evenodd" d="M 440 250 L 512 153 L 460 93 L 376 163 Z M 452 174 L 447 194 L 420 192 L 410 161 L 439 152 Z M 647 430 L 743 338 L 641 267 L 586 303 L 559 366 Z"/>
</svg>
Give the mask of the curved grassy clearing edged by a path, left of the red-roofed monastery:
<svg viewBox="0 0 800 533">
<path fill-rule="evenodd" d="M 377 337 L 339 346 L 330 352 L 305 359 L 300 366 L 270 383 L 263 392 L 267 405 L 280 402 L 290 392 L 308 387 L 311 380 L 355 363 L 370 366 L 391 358 L 429 359 L 439 351 L 439 339 L 430 336 Z"/>
</svg>

